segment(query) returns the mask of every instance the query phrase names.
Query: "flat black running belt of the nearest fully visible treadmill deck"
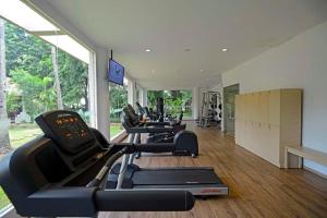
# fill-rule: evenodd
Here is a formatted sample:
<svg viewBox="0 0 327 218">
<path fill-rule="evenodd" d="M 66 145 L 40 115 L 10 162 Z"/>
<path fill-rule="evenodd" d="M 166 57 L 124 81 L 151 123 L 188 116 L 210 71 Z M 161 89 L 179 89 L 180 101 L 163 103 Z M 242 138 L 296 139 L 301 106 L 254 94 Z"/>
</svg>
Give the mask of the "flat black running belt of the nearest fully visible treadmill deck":
<svg viewBox="0 0 327 218">
<path fill-rule="evenodd" d="M 213 170 L 141 170 L 133 175 L 134 185 L 179 185 L 222 183 Z"/>
</svg>

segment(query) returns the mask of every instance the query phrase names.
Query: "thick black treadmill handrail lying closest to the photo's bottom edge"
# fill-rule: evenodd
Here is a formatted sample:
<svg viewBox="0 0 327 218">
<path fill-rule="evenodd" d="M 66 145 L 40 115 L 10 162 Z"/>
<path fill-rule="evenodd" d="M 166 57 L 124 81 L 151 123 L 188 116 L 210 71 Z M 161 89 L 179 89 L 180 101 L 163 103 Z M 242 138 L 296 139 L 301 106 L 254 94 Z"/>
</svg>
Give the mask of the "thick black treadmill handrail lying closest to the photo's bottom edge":
<svg viewBox="0 0 327 218">
<path fill-rule="evenodd" d="M 20 215 L 86 217 L 98 211 L 185 211 L 193 208 L 195 199 L 186 191 L 60 187 L 33 193 L 28 203 L 41 206 L 34 207 L 33 214 L 24 209 Z"/>
</svg>

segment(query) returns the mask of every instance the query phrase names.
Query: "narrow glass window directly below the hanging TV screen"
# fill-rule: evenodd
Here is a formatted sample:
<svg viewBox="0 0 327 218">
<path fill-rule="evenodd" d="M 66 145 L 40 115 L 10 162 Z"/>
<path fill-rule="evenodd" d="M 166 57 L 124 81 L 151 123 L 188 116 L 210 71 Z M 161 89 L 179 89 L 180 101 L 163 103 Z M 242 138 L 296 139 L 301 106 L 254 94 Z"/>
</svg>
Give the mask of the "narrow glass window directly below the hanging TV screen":
<svg viewBox="0 0 327 218">
<path fill-rule="evenodd" d="M 110 97 L 110 138 L 113 138 L 123 131 L 121 124 L 122 109 L 128 105 L 128 81 L 124 85 L 109 83 Z"/>
</svg>

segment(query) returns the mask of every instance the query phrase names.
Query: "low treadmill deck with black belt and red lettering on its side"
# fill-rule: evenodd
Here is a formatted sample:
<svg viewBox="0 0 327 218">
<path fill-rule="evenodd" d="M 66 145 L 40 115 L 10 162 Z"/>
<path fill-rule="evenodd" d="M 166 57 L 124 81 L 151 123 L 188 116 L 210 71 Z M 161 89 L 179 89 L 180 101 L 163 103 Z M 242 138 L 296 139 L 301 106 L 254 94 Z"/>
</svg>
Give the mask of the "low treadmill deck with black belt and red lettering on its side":
<svg viewBox="0 0 327 218">
<path fill-rule="evenodd" d="M 228 186 L 210 167 L 140 168 L 128 165 L 121 171 L 122 166 L 123 162 L 111 169 L 107 190 L 183 190 L 198 197 L 228 195 Z M 120 177 L 122 182 L 118 182 Z"/>
</svg>

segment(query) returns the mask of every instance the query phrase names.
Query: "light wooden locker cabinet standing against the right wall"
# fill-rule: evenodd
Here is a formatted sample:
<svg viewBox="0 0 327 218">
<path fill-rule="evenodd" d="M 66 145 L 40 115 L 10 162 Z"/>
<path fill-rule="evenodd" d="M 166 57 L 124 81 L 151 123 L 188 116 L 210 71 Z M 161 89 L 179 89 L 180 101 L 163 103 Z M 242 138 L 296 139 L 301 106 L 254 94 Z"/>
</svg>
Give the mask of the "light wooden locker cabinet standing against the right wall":
<svg viewBox="0 0 327 218">
<path fill-rule="evenodd" d="M 284 167 L 284 147 L 301 145 L 302 89 L 287 88 L 235 97 L 235 143 Z M 291 167 L 298 161 L 291 160 Z"/>
</svg>

